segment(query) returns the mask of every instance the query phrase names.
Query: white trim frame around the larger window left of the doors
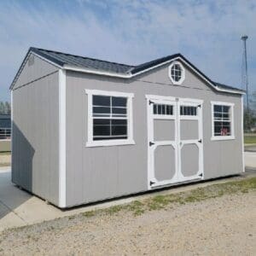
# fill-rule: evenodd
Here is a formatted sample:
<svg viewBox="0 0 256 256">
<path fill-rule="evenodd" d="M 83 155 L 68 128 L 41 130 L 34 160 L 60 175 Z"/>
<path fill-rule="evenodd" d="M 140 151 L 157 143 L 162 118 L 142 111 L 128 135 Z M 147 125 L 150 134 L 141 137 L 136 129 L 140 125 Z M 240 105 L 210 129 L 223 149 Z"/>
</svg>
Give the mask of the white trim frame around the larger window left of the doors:
<svg viewBox="0 0 256 256">
<path fill-rule="evenodd" d="M 87 106 L 88 106 L 88 119 L 87 119 L 87 143 L 86 147 L 102 147 L 102 146 L 117 146 L 117 145 L 132 145 L 135 144 L 133 140 L 133 116 L 132 116 L 132 98 L 134 97 L 133 93 L 119 92 L 119 91 L 109 91 L 109 90 L 88 90 L 85 89 L 87 94 Z M 94 141 L 93 140 L 93 117 L 92 117 L 92 96 L 117 96 L 117 97 L 126 97 L 127 98 L 127 139 L 116 139 L 116 140 L 102 140 Z"/>
</svg>

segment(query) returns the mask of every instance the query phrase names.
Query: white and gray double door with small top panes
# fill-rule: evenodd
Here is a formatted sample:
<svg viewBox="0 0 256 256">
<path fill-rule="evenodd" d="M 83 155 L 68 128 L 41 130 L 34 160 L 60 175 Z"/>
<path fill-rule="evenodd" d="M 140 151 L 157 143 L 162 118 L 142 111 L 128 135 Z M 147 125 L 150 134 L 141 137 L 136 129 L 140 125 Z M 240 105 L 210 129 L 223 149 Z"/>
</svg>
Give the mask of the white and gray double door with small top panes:
<svg viewBox="0 0 256 256">
<path fill-rule="evenodd" d="M 202 179 L 202 101 L 147 99 L 148 188 Z"/>
</svg>

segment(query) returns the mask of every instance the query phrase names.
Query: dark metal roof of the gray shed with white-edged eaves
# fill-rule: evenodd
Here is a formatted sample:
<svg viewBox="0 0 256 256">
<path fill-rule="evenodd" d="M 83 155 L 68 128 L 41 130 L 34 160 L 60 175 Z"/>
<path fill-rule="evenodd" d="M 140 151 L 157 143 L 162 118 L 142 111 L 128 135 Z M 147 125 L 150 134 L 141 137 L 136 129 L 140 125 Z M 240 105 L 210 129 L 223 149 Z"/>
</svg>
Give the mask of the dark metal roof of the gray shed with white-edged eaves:
<svg viewBox="0 0 256 256">
<path fill-rule="evenodd" d="M 209 79 L 204 73 L 201 73 L 201 71 L 195 67 L 190 61 L 188 61 L 183 55 L 181 54 L 175 54 L 175 55 L 168 55 L 166 57 L 156 59 L 154 61 L 148 61 L 143 64 L 137 65 L 137 66 L 131 66 L 131 65 L 126 65 L 126 64 L 120 64 L 116 62 L 111 62 L 111 61 L 102 61 L 102 60 L 97 60 L 89 57 L 83 57 L 79 55 L 70 55 L 54 50 L 49 50 L 49 49 L 39 49 L 39 48 L 34 48 L 31 47 L 27 54 L 30 54 L 30 52 L 33 52 L 37 55 L 40 55 L 44 57 L 45 59 L 55 63 L 56 65 L 63 67 L 64 65 L 71 66 L 71 67 L 80 67 L 80 68 L 86 68 L 92 71 L 102 71 L 102 72 L 108 72 L 108 73 L 113 73 L 113 74 L 131 74 L 131 75 L 136 75 L 137 73 L 143 72 L 147 70 L 148 68 L 156 67 L 157 65 L 164 63 L 166 61 L 172 61 L 172 59 L 175 59 L 177 57 L 183 59 L 183 61 L 186 61 L 189 63 L 191 67 L 195 69 L 197 73 L 200 73 L 201 76 L 203 76 L 207 81 L 209 81 L 210 84 L 212 84 L 216 89 L 223 89 L 223 90 L 232 90 L 235 92 L 243 93 L 244 90 L 237 89 L 235 87 L 231 87 L 226 84 L 219 84 L 216 82 L 213 82 L 211 79 Z M 25 60 L 26 60 L 25 57 Z M 24 60 L 24 61 L 25 61 Z M 21 67 L 24 64 L 24 61 L 22 62 L 20 69 L 18 73 L 15 76 L 15 79 L 13 83 L 10 86 L 10 89 L 13 87 L 13 84 L 15 84 L 15 81 L 17 77 L 20 74 Z"/>
</svg>

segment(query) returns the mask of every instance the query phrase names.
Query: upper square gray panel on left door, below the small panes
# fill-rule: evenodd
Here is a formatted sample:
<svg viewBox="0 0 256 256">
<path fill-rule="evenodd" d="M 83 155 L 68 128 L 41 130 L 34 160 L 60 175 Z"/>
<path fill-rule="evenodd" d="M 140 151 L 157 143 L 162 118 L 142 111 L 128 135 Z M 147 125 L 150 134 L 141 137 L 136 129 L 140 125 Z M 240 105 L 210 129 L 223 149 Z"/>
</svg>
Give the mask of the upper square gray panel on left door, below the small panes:
<svg viewBox="0 0 256 256">
<path fill-rule="evenodd" d="M 154 119 L 154 141 L 175 141 L 175 120 Z"/>
</svg>

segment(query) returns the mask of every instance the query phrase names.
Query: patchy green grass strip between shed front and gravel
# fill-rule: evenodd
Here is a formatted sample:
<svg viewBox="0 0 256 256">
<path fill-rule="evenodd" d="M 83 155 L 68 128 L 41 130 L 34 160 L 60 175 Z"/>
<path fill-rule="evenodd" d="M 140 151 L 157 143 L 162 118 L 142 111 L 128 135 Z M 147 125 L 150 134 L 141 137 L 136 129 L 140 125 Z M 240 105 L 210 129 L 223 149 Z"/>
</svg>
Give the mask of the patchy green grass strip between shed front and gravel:
<svg viewBox="0 0 256 256">
<path fill-rule="evenodd" d="M 250 191 L 256 191 L 256 177 L 244 178 L 228 183 L 212 184 L 204 188 L 192 189 L 177 194 L 155 195 L 142 201 L 133 201 L 125 205 L 84 212 L 82 215 L 84 217 L 93 217 L 99 214 L 113 215 L 125 211 L 131 212 L 134 216 L 138 216 L 147 211 L 157 211 L 175 205 L 204 201 L 211 198 L 218 198 L 223 195 L 244 194 Z"/>
</svg>

